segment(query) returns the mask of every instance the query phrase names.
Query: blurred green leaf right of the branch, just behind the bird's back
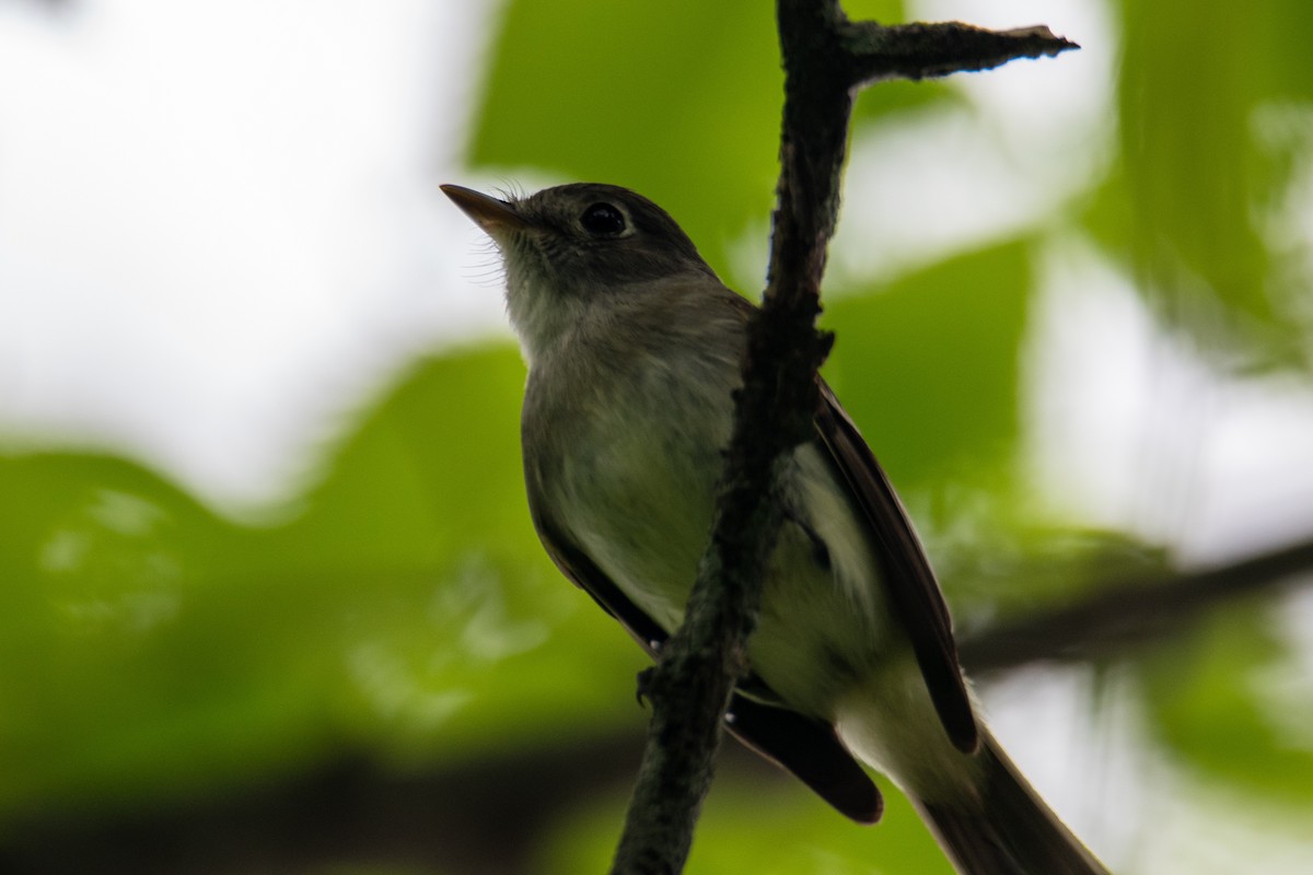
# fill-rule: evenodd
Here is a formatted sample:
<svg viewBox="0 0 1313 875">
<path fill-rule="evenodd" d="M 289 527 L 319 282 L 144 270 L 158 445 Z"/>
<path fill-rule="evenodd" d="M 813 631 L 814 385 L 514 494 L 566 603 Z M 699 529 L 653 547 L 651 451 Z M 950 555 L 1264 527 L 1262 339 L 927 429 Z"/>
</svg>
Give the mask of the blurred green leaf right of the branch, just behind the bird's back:
<svg viewBox="0 0 1313 875">
<path fill-rule="evenodd" d="M 1031 270 L 1008 243 L 827 306 L 827 379 L 899 489 L 1011 459 Z"/>
</svg>

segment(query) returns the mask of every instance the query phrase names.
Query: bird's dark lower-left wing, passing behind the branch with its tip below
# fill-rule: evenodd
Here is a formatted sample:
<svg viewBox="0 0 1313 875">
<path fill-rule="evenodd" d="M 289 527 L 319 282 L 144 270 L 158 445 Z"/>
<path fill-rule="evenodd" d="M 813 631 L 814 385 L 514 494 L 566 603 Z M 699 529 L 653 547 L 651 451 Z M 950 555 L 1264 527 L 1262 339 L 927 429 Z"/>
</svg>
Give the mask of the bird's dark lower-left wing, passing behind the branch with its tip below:
<svg viewBox="0 0 1313 875">
<path fill-rule="evenodd" d="M 655 659 L 670 634 L 630 601 L 587 554 L 572 544 L 542 508 L 533 504 L 530 501 L 533 525 L 557 568 L 620 621 L 649 656 Z M 751 690 L 751 698 L 744 690 Z M 839 741 L 834 727 L 767 703 L 775 698 L 775 693 L 755 676 L 744 678 L 730 699 L 726 728 L 739 741 L 811 787 L 843 815 L 863 824 L 880 820 L 884 809 L 880 791 Z"/>
</svg>

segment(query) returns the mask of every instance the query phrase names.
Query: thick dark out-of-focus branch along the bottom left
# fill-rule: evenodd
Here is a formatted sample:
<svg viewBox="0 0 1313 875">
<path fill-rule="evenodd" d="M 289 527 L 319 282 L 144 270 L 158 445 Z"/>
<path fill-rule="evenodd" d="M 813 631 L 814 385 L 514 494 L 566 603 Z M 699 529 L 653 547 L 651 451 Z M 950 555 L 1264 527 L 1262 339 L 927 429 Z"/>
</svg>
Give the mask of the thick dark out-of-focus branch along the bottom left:
<svg viewBox="0 0 1313 875">
<path fill-rule="evenodd" d="M 621 792 L 634 732 L 516 746 L 407 771 L 343 752 L 244 786 L 96 799 L 8 813 L 5 875 L 294 875 L 328 871 L 534 875 L 541 841 L 599 794 Z"/>
</svg>

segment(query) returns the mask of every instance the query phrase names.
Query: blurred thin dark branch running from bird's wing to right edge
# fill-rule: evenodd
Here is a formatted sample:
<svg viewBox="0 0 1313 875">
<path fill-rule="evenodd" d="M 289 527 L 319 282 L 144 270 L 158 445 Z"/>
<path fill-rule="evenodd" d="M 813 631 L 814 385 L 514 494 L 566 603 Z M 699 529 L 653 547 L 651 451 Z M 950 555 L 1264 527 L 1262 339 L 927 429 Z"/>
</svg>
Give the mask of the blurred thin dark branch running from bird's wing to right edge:
<svg viewBox="0 0 1313 875">
<path fill-rule="evenodd" d="M 1040 660 L 1111 656 L 1186 627 L 1222 602 L 1308 584 L 1310 572 L 1313 540 L 1305 540 L 1229 565 L 1103 586 L 1066 607 L 999 623 L 958 649 L 976 676 Z"/>
</svg>

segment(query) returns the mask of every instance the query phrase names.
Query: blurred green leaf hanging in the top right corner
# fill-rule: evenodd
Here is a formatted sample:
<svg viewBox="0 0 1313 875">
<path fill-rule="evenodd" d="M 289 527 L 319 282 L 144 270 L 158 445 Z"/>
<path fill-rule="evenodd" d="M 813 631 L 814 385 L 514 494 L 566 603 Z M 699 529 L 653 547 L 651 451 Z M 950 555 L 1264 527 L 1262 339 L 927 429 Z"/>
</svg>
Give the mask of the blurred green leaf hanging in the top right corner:
<svg viewBox="0 0 1313 875">
<path fill-rule="evenodd" d="M 1293 177 L 1255 121 L 1274 100 L 1313 97 L 1306 72 L 1289 75 L 1306 70 L 1308 4 L 1123 9 L 1121 245 L 1162 315 L 1204 349 L 1225 359 L 1242 348 L 1258 365 L 1304 359 L 1292 329 L 1306 320 L 1306 274 L 1274 270 L 1262 227 Z"/>
</svg>

